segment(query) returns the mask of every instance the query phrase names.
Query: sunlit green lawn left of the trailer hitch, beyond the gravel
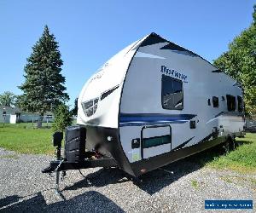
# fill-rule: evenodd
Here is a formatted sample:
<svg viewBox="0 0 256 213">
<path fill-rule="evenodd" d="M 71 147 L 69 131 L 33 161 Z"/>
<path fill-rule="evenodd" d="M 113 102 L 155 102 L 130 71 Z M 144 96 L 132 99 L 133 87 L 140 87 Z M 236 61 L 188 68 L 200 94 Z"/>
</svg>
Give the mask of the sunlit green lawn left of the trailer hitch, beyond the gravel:
<svg viewBox="0 0 256 213">
<path fill-rule="evenodd" d="M 0 126 L 0 147 L 17 153 L 52 154 L 51 129 L 32 129 L 25 123 Z"/>
</svg>

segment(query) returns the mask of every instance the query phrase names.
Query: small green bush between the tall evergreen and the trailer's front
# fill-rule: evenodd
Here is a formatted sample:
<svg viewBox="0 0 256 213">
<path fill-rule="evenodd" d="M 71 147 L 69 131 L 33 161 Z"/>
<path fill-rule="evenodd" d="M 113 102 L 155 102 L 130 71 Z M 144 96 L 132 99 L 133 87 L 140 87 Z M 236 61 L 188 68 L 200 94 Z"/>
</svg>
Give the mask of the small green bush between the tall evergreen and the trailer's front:
<svg viewBox="0 0 256 213">
<path fill-rule="evenodd" d="M 65 104 L 59 105 L 55 109 L 55 121 L 52 125 L 53 130 L 63 132 L 65 128 L 72 124 L 72 113 Z"/>
</svg>

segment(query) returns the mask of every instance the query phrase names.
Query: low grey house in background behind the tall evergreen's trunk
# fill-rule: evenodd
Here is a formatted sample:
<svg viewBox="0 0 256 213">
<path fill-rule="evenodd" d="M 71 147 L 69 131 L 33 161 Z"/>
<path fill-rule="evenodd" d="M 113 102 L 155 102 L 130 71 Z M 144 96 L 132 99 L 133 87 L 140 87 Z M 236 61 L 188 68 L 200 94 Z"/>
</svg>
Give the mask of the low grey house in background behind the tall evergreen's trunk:
<svg viewBox="0 0 256 213">
<path fill-rule="evenodd" d="M 19 122 L 36 122 L 39 118 L 39 113 L 23 112 L 19 107 L 6 107 L 0 105 L 0 123 L 16 124 Z M 53 122 L 53 112 L 44 114 L 43 122 Z"/>
</svg>

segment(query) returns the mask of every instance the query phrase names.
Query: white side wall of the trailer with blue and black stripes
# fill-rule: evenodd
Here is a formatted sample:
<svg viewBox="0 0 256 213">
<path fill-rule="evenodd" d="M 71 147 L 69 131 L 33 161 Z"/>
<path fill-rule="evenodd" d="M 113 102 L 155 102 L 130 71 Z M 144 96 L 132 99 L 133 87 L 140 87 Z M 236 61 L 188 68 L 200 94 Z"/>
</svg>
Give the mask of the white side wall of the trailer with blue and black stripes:
<svg viewBox="0 0 256 213">
<path fill-rule="evenodd" d="M 218 130 L 218 137 L 224 139 L 227 135 L 242 130 L 242 113 L 237 112 L 237 106 L 234 112 L 227 110 L 226 95 L 242 96 L 241 89 L 233 86 L 235 81 L 224 73 L 212 72 L 216 67 L 200 56 L 189 51 L 165 48 L 168 45 L 170 47 L 169 43 L 163 42 L 140 47 L 125 78 L 119 132 L 122 147 L 131 163 L 147 156 L 168 153 L 171 151 L 170 147 L 173 151 L 212 140 L 214 128 Z M 173 85 L 182 85 L 183 99 L 178 103 L 177 109 L 175 106 L 174 109 L 165 109 L 162 79 L 166 76 L 174 79 Z M 173 91 L 167 101 L 180 98 L 181 95 L 177 93 L 175 97 Z M 195 129 L 190 128 L 190 121 L 192 125 L 195 124 Z M 153 138 L 153 147 L 131 148 L 134 139 L 140 139 L 143 145 L 143 127 L 154 125 L 169 125 L 172 130 L 172 144 L 163 142 L 155 146 L 154 137 L 159 135 L 154 135 L 152 130 L 150 137 Z M 223 128 L 220 130 L 221 126 Z M 165 135 L 166 133 L 162 135 L 163 138 Z"/>
</svg>

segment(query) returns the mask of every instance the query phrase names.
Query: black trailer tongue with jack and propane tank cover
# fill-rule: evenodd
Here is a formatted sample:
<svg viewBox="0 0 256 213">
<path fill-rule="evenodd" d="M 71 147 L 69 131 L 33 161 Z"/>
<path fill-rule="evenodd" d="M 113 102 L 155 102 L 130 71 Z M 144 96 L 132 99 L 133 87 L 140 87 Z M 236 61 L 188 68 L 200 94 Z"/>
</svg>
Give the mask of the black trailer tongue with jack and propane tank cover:
<svg viewBox="0 0 256 213">
<path fill-rule="evenodd" d="M 86 151 L 86 129 L 84 126 L 69 126 L 65 132 L 64 156 L 61 156 L 62 132 L 53 134 L 53 145 L 56 147 L 56 159 L 49 163 L 49 167 L 42 170 L 43 173 L 55 172 L 55 190 L 59 193 L 60 172 L 61 177 L 66 176 L 67 170 L 80 170 L 95 167 L 115 167 L 117 162 L 110 157 L 98 153 L 97 150 Z"/>
</svg>

